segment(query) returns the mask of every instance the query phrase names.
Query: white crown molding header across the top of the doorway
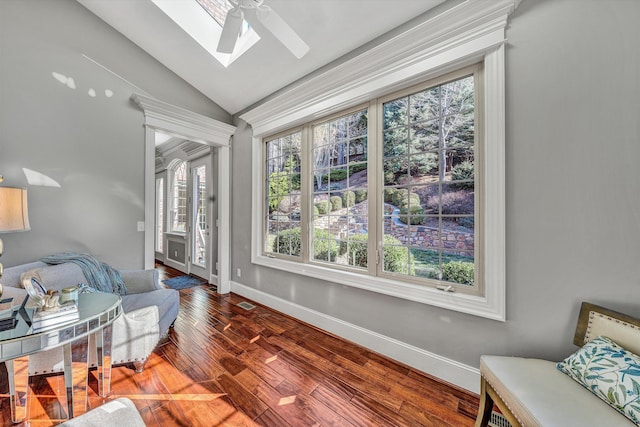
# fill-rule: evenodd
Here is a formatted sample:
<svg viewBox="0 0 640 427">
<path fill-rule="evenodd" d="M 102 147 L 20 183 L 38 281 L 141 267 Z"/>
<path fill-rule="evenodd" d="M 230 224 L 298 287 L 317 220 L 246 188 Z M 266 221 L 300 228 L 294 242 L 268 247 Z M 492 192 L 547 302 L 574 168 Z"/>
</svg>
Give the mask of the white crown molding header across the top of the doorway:
<svg viewBox="0 0 640 427">
<path fill-rule="evenodd" d="M 228 146 L 236 127 L 176 107 L 149 96 L 134 93 L 131 100 L 144 112 L 145 126 L 206 145 Z M 188 138 L 186 136 L 189 135 Z"/>
</svg>

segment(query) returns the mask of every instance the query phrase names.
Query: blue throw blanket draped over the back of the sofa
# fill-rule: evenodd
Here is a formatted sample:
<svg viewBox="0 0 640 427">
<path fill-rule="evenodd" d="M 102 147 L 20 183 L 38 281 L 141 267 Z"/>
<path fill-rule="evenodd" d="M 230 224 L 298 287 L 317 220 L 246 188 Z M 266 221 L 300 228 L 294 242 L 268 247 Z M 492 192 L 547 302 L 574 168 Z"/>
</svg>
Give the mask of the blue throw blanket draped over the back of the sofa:
<svg viewBox="0 0 640 427">
<path fill-rule="evenodd" d="M 108 264 L 98 261 L 95 257 L 86 254 L 63 253 L 49 255 L 41 258 L 47 264 L 64 264 L 72 262 L 82 269 L 88 285 L 101 292 L 125 295 L 127 287 L 118 270 Z"/>
</svg>

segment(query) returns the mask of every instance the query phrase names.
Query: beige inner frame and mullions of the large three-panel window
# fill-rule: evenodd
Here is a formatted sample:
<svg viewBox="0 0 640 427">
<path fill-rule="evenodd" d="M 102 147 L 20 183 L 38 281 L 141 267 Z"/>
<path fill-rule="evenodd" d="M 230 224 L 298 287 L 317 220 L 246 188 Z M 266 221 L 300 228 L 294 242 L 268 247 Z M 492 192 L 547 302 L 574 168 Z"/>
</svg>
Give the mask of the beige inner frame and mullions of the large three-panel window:
<svg viewBox="0 0 640 427">
<path fill-rule="evenodd" d="M 300 219 L 300 228 L 301 230 L 307 230 L 307 232 L 301 231 L 301 252 L 299 256 L 293 256 L 288 254 L 280 254 L 277 252 L 269 251 L 268 245 L 266 242 L 269 240 L 270 236 L 270 227 L 269 227 L 269 211 L 268 211 L 268 198 L 264 199 L 264 202 L 260 209 L 262 210 L 263 218 L 265 221 L 263 222 L 263 236 L 265 241 L 262 245 L 262 254 L 264 256 L 268 256 L 274 259 L 283 259 L 291 262 L 297 262 L 308 265 L 317 265 L 320 267 L 338 269 L 347 272 L 351 272 L 354 274 L 361 274 L 367 277 L 379 277 L 388 280 L 400 281 L 402 283 L 414 284 L 417 286 L 428 286 L 428 287 L 441 287 L 446 288 L 448 286 L 452 286 L 457 292 L 463 292 L 467 294 L 473 295 L 482 295 L 484 291 L 484 281 L 482 271 L 483 266 L 481 263 L 481 257 L 478 256 L 478 261 L 476 261 L 474 250 L 474 267 L 475 271 L 478 272 L 476 283 L 473 286 L 457 284 L 437 279 L 428 279 L 423 277 L 411 276 L 408 274 L 402 273 L 393 273 L 384 271 L 384 263 L 376 262 L 378 259 L 383 257 L 383 246 L 378 244 L 381 242 L 384 237 L 384 213 L 383 213 L 383 203 L 380 203 L 379 195 L 382 194 L 385 185 L 384 180 L 382 179 L 384 176 L 384 168 L 382 166 L 382 162 L 384 160 L 383 151 L 383 140 L 384 140 L 384 129 L 382 126 L 383 123 L 383 114 L 384 114 L 384 104 L 396 100 L 401 99 L 406 96 L 410 96 L 421 91 L 438 87 L 448 82 L 456 81 L 458 79 L 464 77 L 473 77 L 474 79 L 474 152 L 482 153 L 482 148 L 484 141 L 482 139 L 482 124 L 476 123 L 478 122 L 478 117 L 482 115 L 482 107 L 479 105 L 482 103 L 483 91 L 482 91 L 482 75 L 483 69 L 481 64 L 474 64 L 471 66 L 464 67 L 460 70 L 456 70 L 450 73 L 447 73 L 443 76 L 438 76 L 437 78 L 421 82 L 420 84 L 411 86 L 409 88 L 403 89 L 398 92 L 394 92 L 391 94 L 387 94 L 383 97 L 372 99 L 371 101 L 359 104 L 355 107 L 349 108 L 344 111 L 339 111 L 331 114 L 327 117 L 322 117 L 312 122 L 306 123 L 300 127 L 296 127 L 291 130 L 287 130 L 284 132 L 279 132 L 275 135 L 269 135 L 263 138 L 263 143 L 261 150 L 263 151 L 263 166 L 266 168 L 266 162 L 268 161 L 268 152 L 267 146 L 269 143 L 276 141 L 282 137 L 287 137 L 290 135 L 300 134 L 300 155 L 301 155 L 301 219 Z M 313 239 L 314 239 L 314 230 L 315 224 L 312 218 L 314 199 L 316 195 L 316 191 L 314 191 L 314 176 L 315 176 L 315 165 L 314 165 L 314 150 L 315 150 L 315 140 L 314 140 L 314 129 L 317 126 L 330 124 L 334 122 L 336 119 L 341 119 L 344 117 L 348 117 L 354 113 L 365 111 L 367 115 L 367 200 L 368 200 L 368 209 L 367 209 L 367 218 L 368 218 L 368 229 L 371 230 L 368 233 L 368 262 L 367 267 L 355 267 L 348 264 L 339 264 L 328 260 L 318 260 L 312 257 L 313 252 Z M 369 117 L 371 112 L 376 115 L 375 120 L 373 121 L 374 126 L 369 125 Z M 481 157 L 481 156 L 480 156 Z M 481 217 L 481 206 L 482 206 L 482 198 L 483 198 L 483 181 L 482 181 L 482 173 L 483 165 L 481 162 L 474 162 L 476 173 L 475 173 L 475 189 L 474 189 L 474 219 Z M 329 166 L 329 170 L 333 168 Z M 265 191 L 269 187 L 268 181 L 268 171 L 265 170 L 264 173 L 264 188 Z M 303 185 L 304 184 L 304 185 Z M 369 197 L 375 195 L 375 204 L 372 204 L 371 200 L 374 197 Z M 327 213 L 327 216 L 330 216 Z M 481 221 L 478 221 L 481 224 Z M 277 234 L 277 233 L 276 233 Z M 482 225 L 478 227 L 474 227 L 474 244 L 476 246 L 481 246 L 483 241 L 483 227 Z M 406 246 L 405 246 L 406 247 Z"/>
</svg>

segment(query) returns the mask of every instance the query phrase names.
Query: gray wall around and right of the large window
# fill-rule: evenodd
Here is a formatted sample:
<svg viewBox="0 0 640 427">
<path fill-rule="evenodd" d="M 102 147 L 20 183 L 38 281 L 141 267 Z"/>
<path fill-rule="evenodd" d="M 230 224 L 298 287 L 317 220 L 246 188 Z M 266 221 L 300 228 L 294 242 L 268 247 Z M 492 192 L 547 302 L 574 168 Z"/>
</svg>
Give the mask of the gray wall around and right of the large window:
<svg viewBox="0 0 640 427">
<path fill-rule="evenodd" d="M 244 285 L 459 362 L 559 360 L 580 302 L 640 315 L 640 30 L 635 0 L 525 0 L 507 29 L 507 322 L 250 262 L 251 130 L 233 147 Z"/>
</svg>

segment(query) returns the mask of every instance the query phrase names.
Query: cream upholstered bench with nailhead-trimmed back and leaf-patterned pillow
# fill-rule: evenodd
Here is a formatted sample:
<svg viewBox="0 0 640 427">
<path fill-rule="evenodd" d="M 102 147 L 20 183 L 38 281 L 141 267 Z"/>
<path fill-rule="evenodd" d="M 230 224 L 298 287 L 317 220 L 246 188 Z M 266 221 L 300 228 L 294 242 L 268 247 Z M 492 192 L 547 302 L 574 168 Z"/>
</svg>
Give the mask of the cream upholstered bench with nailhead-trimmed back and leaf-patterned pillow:
<svg viewBox="0 0 640 427">
<path fill-rule="evenodd" d="M 476 427 L 494 403 L 514 427 L 640 425 L 640 319 L 583 303 L 573 342 L 560 363 L 482 356 Z"/>
</svg>

